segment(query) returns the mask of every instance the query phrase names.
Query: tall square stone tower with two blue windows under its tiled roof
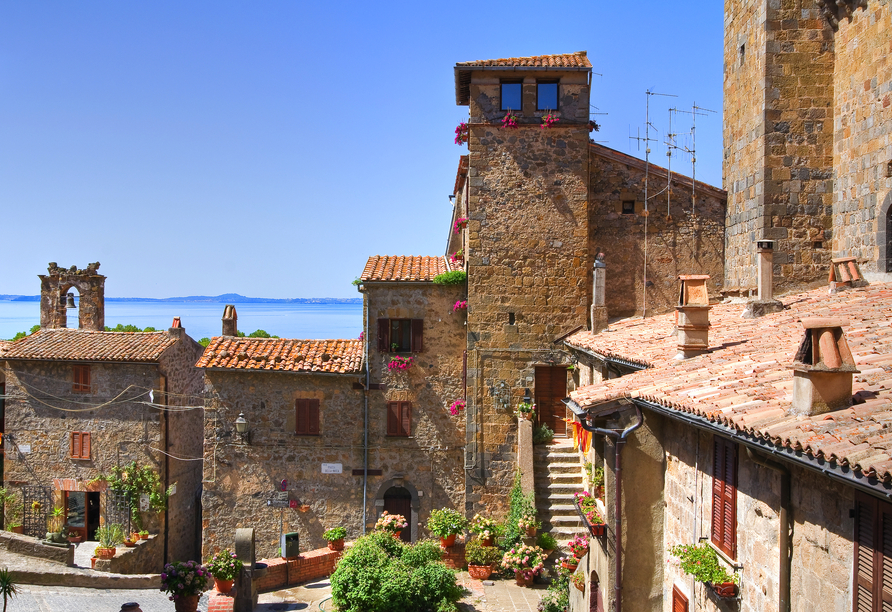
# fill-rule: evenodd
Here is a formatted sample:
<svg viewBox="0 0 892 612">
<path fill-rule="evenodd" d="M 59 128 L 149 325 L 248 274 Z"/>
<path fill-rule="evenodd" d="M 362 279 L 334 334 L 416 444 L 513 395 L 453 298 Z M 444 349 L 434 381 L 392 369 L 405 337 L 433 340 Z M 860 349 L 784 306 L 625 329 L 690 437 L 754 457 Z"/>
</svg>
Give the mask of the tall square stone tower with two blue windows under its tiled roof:
<svg viewBox="0 0 892 612">
<path fill-rule="evenodd" d="M 512 409 L 525 396 L 549 406 L 566 396 L 555 340 L 587 324 L 590 75 L 585 52 L 455 66 L 456 103 L 469 107 L 467 181 L 456 203 L 469 221 L 454 265 L 468 271 L 471 513 L 505 507 L 516 465 Z M 549 113 L 559 121 L 543 127 Z"/>
</svg>

